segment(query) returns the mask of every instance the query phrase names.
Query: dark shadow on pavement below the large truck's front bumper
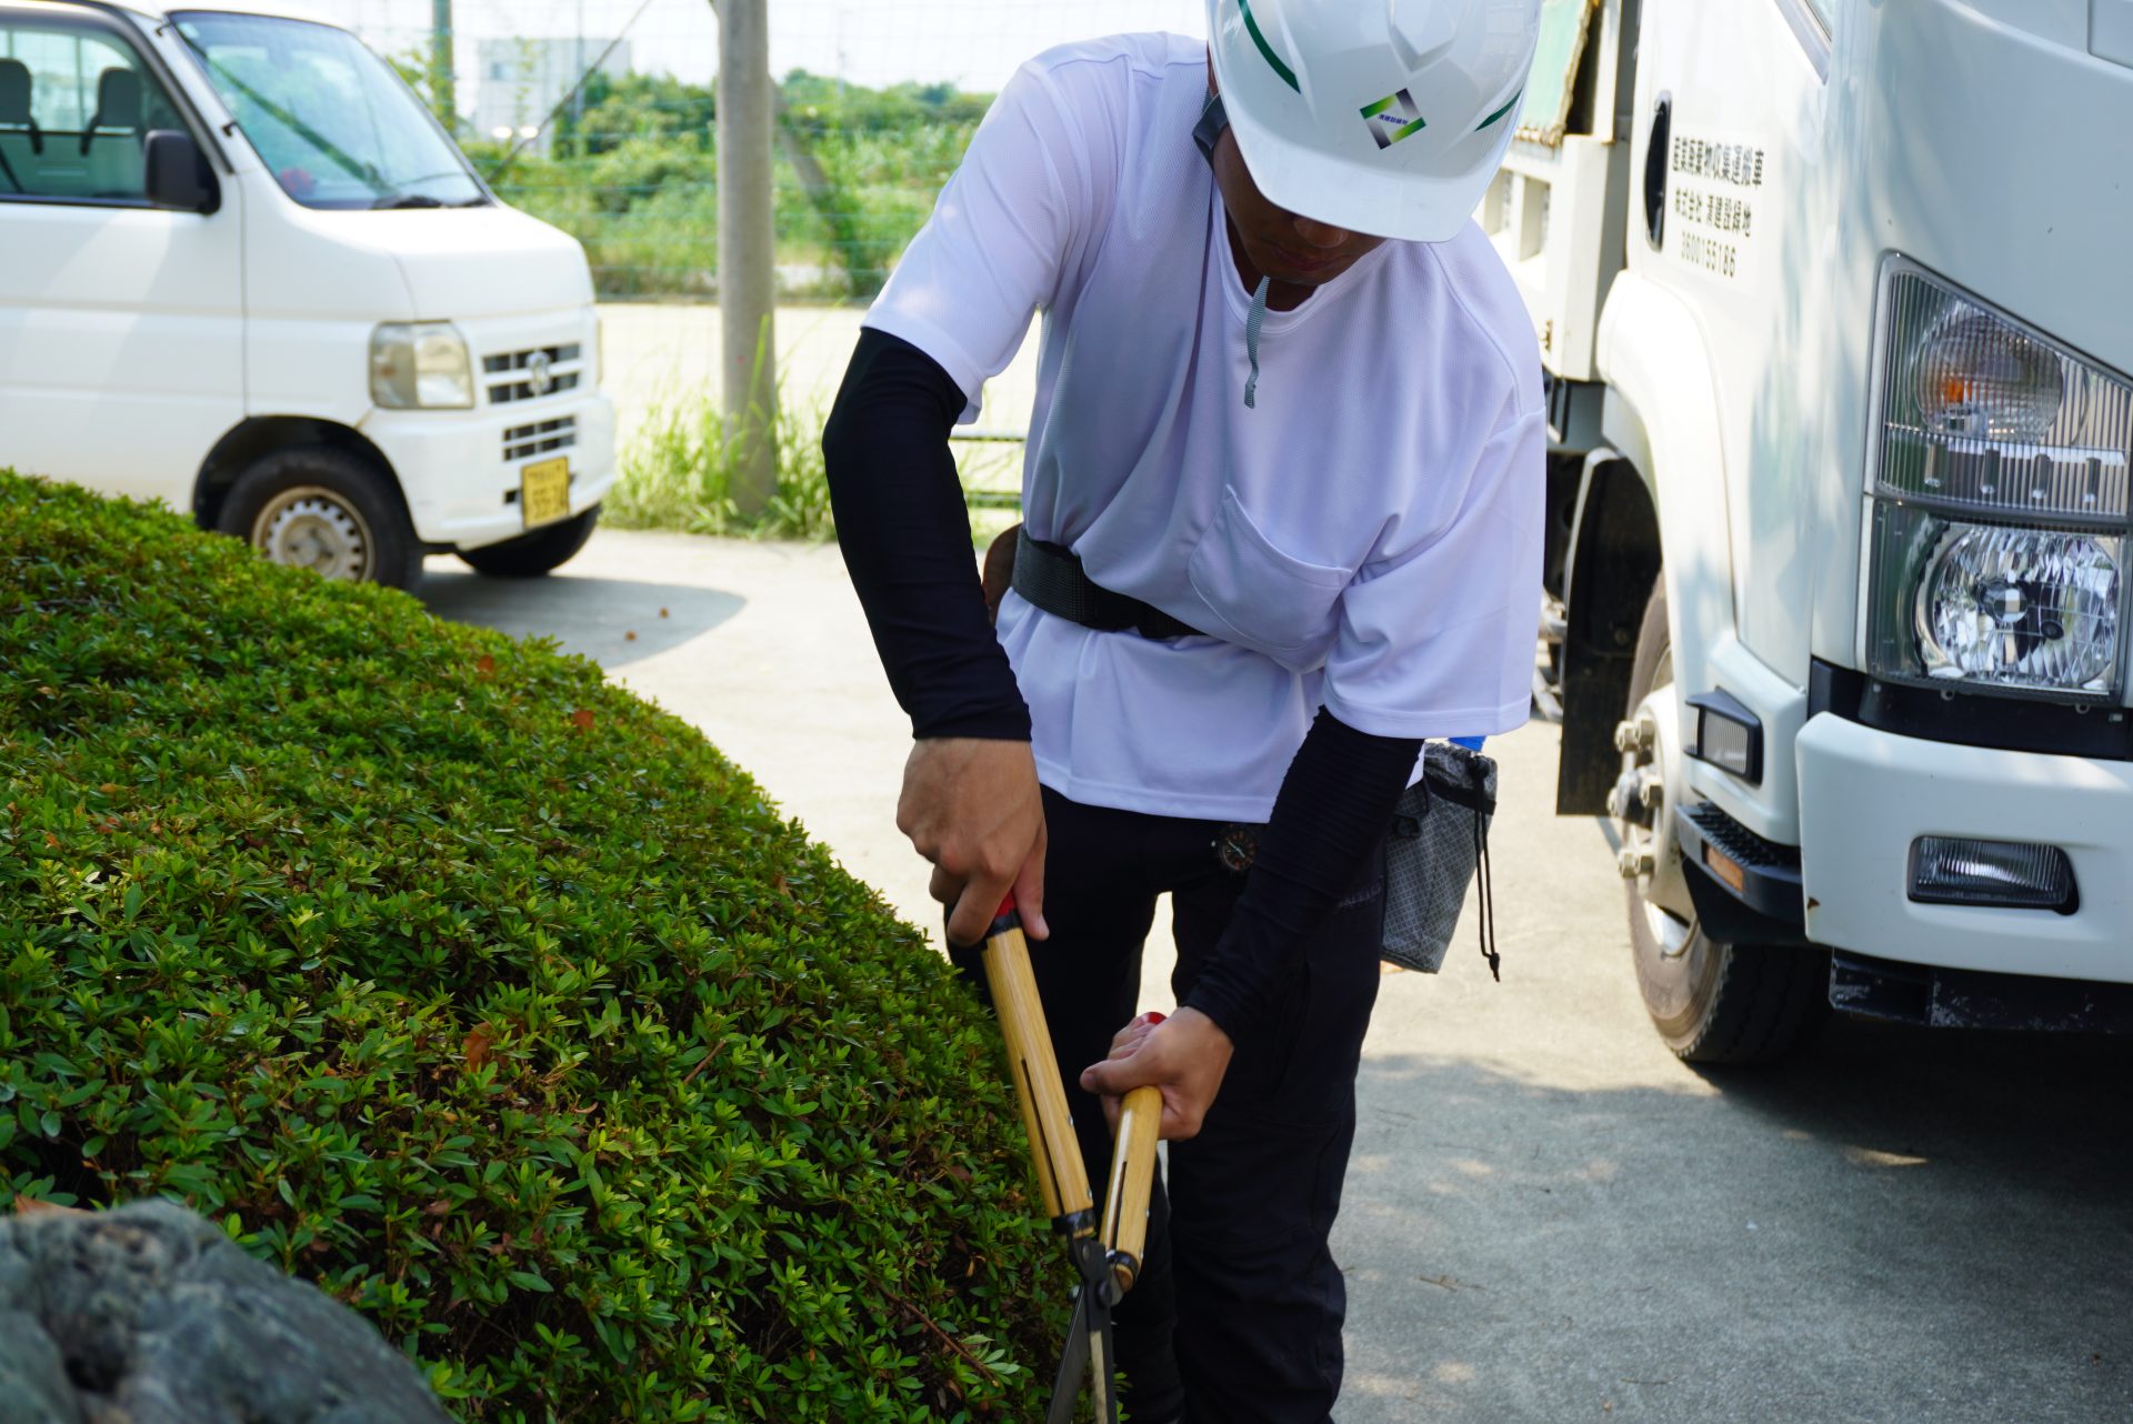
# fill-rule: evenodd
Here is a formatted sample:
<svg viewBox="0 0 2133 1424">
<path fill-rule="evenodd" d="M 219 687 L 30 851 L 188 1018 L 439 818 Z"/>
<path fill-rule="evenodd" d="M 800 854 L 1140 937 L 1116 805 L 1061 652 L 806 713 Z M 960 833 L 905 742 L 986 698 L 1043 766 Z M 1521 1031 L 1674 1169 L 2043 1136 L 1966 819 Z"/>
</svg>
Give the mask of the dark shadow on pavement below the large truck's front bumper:
<svg viewBox="0 0 2133 1424">
<path fill-rule="evenodd" d="M 2133 1418 L 2133 1045 L 1839 1021 L 1758 1074 L 1361 1087 L 1344 1420 Z"/>
</svg>

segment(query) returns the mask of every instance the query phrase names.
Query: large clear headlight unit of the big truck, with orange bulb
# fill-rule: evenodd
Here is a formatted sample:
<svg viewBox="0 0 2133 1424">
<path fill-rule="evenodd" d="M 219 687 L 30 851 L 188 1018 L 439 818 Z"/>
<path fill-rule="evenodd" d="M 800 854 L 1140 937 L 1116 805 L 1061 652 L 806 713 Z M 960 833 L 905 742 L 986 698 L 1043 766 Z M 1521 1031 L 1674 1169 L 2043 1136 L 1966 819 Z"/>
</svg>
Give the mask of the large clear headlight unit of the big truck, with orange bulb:
<svg viewBox="0 0 2133 1424">
<path fill-rule="evenodd" d="M 1903 258 L 1879 333 L 1869 674 L 2120 701 L 2133 384 Z"/>
</svg>

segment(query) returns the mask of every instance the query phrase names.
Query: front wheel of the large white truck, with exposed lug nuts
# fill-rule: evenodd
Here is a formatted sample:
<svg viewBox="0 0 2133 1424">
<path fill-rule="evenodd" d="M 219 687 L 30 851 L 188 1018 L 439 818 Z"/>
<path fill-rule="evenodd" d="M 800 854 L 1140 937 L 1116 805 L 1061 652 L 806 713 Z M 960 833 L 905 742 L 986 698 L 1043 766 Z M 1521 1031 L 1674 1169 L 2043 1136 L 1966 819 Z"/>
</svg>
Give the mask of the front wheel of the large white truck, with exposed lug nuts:
<svg viewBox="0 0 2133 1424">
<path fill-rule="evenodd" d="M 1674 795 L 1685 782 L 1664 578 L 1645 605 L 1617 744 L 1615 834 L 1645 1013 L 1691 1064 L 1768 1064 L 1792 1053 L 1828 1017 L 1830 961 L 1813 949 L 1726 944 L 1696 921 L 1687 883 L 1696 872 L 1674 842 Z"/>
</svg>

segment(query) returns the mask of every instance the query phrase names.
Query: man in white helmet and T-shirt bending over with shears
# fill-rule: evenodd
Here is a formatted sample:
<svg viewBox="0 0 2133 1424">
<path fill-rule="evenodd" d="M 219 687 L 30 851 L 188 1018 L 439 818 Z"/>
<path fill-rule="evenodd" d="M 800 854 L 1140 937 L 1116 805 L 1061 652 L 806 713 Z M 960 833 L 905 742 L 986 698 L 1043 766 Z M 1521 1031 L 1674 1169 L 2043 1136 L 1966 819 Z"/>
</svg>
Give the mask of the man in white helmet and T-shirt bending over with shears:
<svg viewBox="0 0 2133 1424">
<path fill-rule="evenodd" d="M 1118 1309 L 1135 1420 L 1318 1424 L 1327 1251 L 1423 738 L 1525 721 L 1540 356 L 1468 213 L 1540 0 L 1209 0 L 1030 60 L 881 292 L 823 433 L 911 714 L 898 825 L 951 944 L 1011 889 L 1090 1179 L 1173 1140 Z M 958 420 L 1045 313 L 1013 590 Z M 1169 893 L 1177 1013 L 1135 1017 Z M 1084 1064 L 1088 1066 L 1084 1072 Z"/>
</svg>

